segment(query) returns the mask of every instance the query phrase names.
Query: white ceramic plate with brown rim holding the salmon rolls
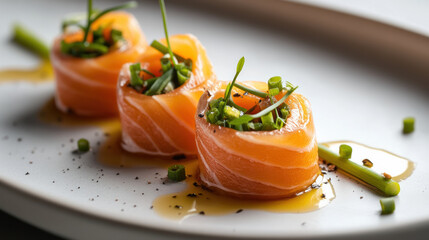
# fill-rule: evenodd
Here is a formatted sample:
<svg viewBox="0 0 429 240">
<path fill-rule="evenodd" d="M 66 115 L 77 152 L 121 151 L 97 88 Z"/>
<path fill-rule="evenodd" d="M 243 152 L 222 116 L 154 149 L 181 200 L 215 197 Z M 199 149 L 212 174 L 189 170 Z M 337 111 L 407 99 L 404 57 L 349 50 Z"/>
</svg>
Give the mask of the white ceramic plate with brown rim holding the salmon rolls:
<svg viewBox="0 0 429 240">
<path fill-rule="evenodd" d="M 102 8 L 114 3 L 96 4 Z M 75 143 L 70 138 L 103 142 L 102 131 L 40 122 L 38 112 L 52 98 L 53 82 L 19 81 L 0 85 L 2 210 L 79 239 L 427 236 L 429 78 L 421 66 L 422 61 L 426 65 L 429 61 L 427 38 L 297 3 L 248 1 L 243 5 L 235 1 L 230 8 L 223 4 L 168 1 L 170 33 L 195 34 L 220 79 L 230 79 L 237 59 L 244 55 L 241 80 L 266 81 L 281 75 L 299 85 L 312 103 L 319 142 L 350 139 L 413 160 L 416 170 L 401 182 L 393 215 L 380 216 L 380 196 L 339 174 L 341 181 L 333 182 L 336 199 L 314 212 L 249 210 L 183 221 L 162 218 L 150 209 L 152 201 L 183 189 L 183 184 L 166 187 L 155 175 L 165 175 L 165 170 L 110 168 L 95 161 L 92 154 L 73 161 Z M 51 41 L 64 15 L 85 8 L 81 1 L 12 1 L 7 5 L 7 11 L 2 7 L 0 22 L 1 68 L 37 64 L 37 59 L 5 40 L 12 22 L 20 21 Z M 156 2 L 141 2 L 132 12 L 148 40 L 163 36 Z M 401 124 L 408 115 L 416 117 L 416 131 L 404 136 Z"/>
</svg>

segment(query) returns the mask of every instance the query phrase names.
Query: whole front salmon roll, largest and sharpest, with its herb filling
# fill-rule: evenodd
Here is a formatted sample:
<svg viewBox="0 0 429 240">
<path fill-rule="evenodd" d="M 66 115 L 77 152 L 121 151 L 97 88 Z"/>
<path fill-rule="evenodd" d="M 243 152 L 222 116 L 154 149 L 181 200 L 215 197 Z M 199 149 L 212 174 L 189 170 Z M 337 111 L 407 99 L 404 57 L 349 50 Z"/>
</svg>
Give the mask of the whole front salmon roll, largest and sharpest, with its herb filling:
<svg viewBox="0 0 429 240">
<path fill-rule="evenodd" d="M 198 103 L 201 183 L 239 198 L 299 194 L 320 174 L 308 100 L 280 77 L 271 78 L 268 85 L 235 80 L 206 91 Z"/>
</svg>

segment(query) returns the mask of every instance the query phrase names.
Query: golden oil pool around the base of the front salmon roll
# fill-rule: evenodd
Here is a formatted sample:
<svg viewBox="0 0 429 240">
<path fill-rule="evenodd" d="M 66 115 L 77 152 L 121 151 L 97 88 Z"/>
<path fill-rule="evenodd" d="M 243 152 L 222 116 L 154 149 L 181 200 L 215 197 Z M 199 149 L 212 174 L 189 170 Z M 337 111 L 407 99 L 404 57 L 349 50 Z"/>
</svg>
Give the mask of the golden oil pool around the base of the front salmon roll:
<svg viewBox="0 0 429 240">
<path fill-rule="evenodd" d="M 292 198 L 281 200 L 245 200 L 215 194 L 197 181 L 197 161 L 185 164 L 191 177 L 186 179 L 187 188 L 178 193 L 163 195 L 153 202 L 153 209 L 161 216 L 183 220 L 195 215 L 225 215 L 240 213 L 243 209 L 277 213 L 300 213 L 320 209 L 335 198 L 335 192 L 324 175 L 313 186 Z"/>
</svg>

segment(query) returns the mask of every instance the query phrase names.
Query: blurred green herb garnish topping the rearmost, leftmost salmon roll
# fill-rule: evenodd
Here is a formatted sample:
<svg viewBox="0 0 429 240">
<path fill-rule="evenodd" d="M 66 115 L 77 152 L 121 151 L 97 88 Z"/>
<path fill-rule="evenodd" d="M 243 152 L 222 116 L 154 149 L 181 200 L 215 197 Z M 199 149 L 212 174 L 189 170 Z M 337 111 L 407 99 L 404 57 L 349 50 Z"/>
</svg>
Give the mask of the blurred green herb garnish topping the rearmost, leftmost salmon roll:
<svg viewBox="0 0 429 240">
<path fill-rule="evenodd" d="M 77 26 L 83 30 L 84 36 L 82 41 L 66 42 L 61 41 L 61 52 L 79 58 L 94 58 L 109 52 L 110 47 L 118 46 L 125 40 L 122 32 L 117 29 L 111 29 L 109 36 L 104 34 L 105 28 L 99 27 L 91 31 L 91 25 L 100 17 L 105 14 L 125 8 L 134 8 L 137 6 L 136 2 L 128 2 L 116 7 L 108 8 L 104 11 L 98 12 L 92 9 L 92 0 L 88 0 L 88 12 L 86 25 L 82 25 L 77 19 L 66 20 L 62 24 L 62 29 L 65 31 L 69 26 Z M 92 41 L 88 37 L 92 34 Z"/>
</svg>

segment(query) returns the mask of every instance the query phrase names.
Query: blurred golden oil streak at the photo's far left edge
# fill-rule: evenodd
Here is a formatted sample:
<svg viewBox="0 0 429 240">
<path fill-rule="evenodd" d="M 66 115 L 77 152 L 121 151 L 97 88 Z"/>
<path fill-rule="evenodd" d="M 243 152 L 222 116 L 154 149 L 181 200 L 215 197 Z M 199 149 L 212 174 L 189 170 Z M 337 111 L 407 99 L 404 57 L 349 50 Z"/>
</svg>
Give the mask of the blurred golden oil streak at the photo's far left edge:
<svg viewBox="0 0 429 240">
<path fill-rule="evenodd" d="M 0 71 L 0 83 L 9 81 L 47 82 L 53 80 L 54 72 L 49 61 L 41 61 L 34 69 L 6 69 Z"/>
</svg>

